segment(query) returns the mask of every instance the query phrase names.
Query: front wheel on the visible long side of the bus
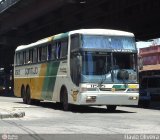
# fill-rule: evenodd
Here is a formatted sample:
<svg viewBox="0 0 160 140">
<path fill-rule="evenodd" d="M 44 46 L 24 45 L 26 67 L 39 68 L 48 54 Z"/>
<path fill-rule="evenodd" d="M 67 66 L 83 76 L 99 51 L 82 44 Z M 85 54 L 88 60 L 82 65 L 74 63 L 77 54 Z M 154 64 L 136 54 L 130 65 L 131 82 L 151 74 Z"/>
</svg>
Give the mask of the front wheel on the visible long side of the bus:
<svg viewBox="0 0 160 140">
<path fill-rule="evenodd" d="M 61 100 L 62 100 L 62 106 L 64 111 L 70 110 L 70 104 L 68 103 L 68 93 L 67 89 L 64 87 L 61 90 Z"/>
</svg>

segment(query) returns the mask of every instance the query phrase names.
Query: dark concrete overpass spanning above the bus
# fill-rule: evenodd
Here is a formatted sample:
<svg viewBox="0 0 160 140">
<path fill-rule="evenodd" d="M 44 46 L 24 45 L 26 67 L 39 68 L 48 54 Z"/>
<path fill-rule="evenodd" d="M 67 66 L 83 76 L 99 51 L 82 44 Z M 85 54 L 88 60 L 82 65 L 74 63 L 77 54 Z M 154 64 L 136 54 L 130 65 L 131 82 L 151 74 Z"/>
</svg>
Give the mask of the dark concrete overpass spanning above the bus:
<svg viewBox="0 0 160 140">
<path fill-rule="evenodd" d="M 160 37 L 160 0 L 0 0 L 0 67 L 13 64 L 17 45 L 78 28 Z"/>
</svg>

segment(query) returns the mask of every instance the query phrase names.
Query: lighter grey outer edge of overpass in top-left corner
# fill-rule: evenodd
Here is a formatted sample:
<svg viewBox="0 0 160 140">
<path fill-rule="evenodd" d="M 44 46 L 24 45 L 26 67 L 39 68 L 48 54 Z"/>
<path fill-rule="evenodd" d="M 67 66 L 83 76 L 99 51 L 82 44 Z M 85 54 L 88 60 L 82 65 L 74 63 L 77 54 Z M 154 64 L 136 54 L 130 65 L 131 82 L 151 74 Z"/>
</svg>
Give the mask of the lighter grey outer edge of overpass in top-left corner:
<svg viewBox="0 0 160 140">
<path fill-rule="evenodd" d="M 0 13 L 7 10 L 12 5 L 16 4 L 20 0 L 0 0 Z"/>
</svg>

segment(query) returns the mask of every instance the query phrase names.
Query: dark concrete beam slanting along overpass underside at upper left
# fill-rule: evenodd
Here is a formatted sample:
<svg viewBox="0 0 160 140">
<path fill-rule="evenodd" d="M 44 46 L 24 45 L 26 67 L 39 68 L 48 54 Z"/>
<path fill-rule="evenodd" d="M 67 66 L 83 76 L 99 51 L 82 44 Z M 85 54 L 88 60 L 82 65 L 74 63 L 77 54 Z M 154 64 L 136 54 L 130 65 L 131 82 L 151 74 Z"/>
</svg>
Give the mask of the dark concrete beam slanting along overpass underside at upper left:
<svg viewBox="0 0 160 140">
<path fill-rule="evenodd" d="M 21 0 L 17 4 L 20 4 L 23 1 L 26 0 Z M 18 29 L 19 26 L 31 22 L 42 15 L 47 16 L 47 13 L 56 10 L 63 4 L 65 4 L 64 0 L 47 0 L 47 2 L 44 0 L 38 0 L 24 9 L 22 7 L 18 10 L 18 12 L 12 13 L 7 19 L 1 22 L 0 35 L 10 30 Z"/>
</svg>

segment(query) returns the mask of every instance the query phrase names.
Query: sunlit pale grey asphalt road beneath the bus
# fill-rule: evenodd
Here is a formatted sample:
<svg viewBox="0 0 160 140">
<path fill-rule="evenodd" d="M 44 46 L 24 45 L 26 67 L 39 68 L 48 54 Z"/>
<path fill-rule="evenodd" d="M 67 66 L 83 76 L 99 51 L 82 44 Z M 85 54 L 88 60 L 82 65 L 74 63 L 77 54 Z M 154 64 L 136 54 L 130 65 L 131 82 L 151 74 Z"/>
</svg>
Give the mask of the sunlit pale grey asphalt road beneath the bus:
<svg viewBox="0 0 160 140">
<path fill-rule="evenodd" d="M 141 135 L 153 134 L 160 139 L 159 106 L 149 109 L 119 106 L 114 112 L 107 112 L 105 106 L 74 106 L 72 111 L 64 112 L 59 105 L 51 102 L 41 102 L 37 106 L 25 105 L 20 98 L 0 96 L 2 102 L 8 105 L 12 103 L 12 108 L 25 111 L 22 118 L 0 120 L 2 136 L 12 134 L 11 137 L 16 139 L 17 135 L 20 137 L 20 134 L 27 134 L 33 139 L 43 139 L 45 134 L 48 137 L 52 136 L 48 134 L 54 134 L 55 138 L 66 139 L 67 134 L 70 137 L 68 139 L 75 139 L 75 135 L 76 139 L 77 135 L 79 139 L 106 139 L 106 136 L 111 136 L 109 139 L 130 139 L 133 134 L 137 139 Z"/>
</svg>

